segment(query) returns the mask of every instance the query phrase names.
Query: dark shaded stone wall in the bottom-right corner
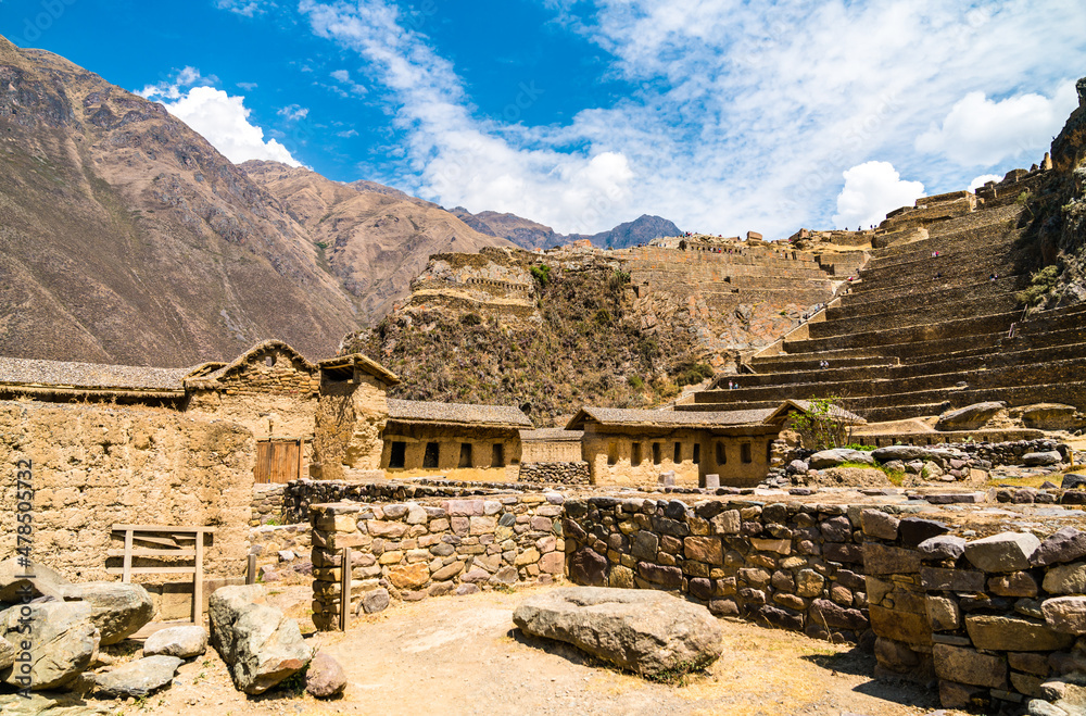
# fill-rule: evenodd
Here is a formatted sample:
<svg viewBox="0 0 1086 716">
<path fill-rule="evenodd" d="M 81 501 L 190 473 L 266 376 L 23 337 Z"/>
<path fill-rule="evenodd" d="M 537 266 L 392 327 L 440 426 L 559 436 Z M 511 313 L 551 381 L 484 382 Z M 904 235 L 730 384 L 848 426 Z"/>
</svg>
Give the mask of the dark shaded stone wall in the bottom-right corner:
<svg viewBox="0 0 1086 716">
<path fill-rule="evenodd" d="M 1061 693 L 1078 689 L 1086 678 L 1086 532 L 1032 522 L 1023 527 L 1033 531 L 978 538 L 875 511 L 861 522 L 883 674 L 934 675 L 943 705 L 954 708 L 1021 713 L 1031 700 L 1059 705 Z"/>
</svg>

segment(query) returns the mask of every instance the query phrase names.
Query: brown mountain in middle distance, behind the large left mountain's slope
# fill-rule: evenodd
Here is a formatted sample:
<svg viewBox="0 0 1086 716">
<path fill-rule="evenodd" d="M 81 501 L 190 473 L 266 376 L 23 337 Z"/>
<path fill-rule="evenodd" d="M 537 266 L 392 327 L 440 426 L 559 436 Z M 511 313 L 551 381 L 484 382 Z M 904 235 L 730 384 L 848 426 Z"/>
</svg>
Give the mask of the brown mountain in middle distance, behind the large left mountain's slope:
<svg viewBox="0 0 1086 716">
<path fill-rule="evenodd" d="M 341 184 L 305 168 L 249 161 L 241 168 L 288 209 L 352 294 L 358 319 L 382 318 L 411 294 L 431 254 L 513 247 L 434 203 L 372 181 Z"/>
</svg>

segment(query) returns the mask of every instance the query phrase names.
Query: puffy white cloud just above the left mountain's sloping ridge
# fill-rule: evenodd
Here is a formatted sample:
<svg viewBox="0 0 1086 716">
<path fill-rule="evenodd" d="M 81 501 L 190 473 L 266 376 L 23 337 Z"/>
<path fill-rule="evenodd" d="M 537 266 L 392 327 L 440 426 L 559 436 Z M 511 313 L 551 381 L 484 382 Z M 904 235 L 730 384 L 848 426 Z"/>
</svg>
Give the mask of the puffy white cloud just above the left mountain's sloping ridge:
<svg viewBox="0 0 1086 716">
<path fill-rule="evenodd" d="M 202 135 L 235 164 L 264 159 L 301 166 L 301 162 L 278 141 L 264 141 L 264 130 L 249 122 L 251 110 L 244 105 L 244 97 L 230 97 L 204 84 L 192 86 L 207 79 L 199 70 L 186 67 L 173 81 L 148 85 L 137 93 L 161 101 L 171 114 Z"/>
</svg>

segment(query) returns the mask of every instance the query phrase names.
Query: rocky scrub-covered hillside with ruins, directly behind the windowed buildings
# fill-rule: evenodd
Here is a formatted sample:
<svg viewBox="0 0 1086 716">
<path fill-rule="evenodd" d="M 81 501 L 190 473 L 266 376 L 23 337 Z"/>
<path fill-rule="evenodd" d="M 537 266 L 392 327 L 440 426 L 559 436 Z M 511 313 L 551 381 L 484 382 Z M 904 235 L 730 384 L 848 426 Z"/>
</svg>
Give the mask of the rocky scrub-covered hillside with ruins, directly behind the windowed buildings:
<svg viewBox="0 0 1086 716">
<path fill-rule="evenodd" d="M 343 350 L 399 373 L 394 397 L 515 403 L 543 426 L 583 404 L 666 402 L 779 338 L 832 288 L 813 262 L 769 247 L 437 254 L 411 299 Z"/>
</svg>

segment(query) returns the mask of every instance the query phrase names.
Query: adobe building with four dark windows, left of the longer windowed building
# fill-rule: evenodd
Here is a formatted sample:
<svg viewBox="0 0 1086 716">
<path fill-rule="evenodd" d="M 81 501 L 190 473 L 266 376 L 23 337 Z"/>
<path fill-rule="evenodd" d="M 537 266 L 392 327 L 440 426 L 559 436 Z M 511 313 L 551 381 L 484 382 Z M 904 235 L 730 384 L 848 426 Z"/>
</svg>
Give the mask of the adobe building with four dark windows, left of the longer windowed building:
<svg viewBox="0 0 1086 716">
<path fill-rule="evenodd" d="M 516 481 L 519 409 L 411 400 L 388 401 L 380 467 L 390 477 L 442 475 L 456 480 Z"/>
</svg>

